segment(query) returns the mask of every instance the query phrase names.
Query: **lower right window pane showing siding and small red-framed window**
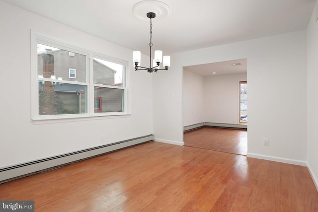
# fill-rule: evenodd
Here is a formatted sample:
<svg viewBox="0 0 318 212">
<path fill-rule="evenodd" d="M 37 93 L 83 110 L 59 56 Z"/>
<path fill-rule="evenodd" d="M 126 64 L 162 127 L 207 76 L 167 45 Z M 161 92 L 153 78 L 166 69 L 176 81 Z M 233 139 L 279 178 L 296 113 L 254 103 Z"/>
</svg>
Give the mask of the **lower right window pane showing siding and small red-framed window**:
<svg viewBox="0 0 318 212">
<path fill-rule="evenodd" d="M 101 111 L 96 112 L 122 112 L 124 90 L 107 87 L 94 87 L 95 99 L 100 99 Z"/>
</svg>

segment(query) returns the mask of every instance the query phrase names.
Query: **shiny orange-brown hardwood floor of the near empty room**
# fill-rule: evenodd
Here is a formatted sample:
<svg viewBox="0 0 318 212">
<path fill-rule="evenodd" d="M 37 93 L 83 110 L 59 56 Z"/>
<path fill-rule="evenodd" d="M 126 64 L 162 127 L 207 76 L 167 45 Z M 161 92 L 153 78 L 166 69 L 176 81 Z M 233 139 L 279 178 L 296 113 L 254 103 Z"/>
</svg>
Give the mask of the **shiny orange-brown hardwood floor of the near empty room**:
<svg viewBox="0 0 318 212">
<path fill-rule="evenodd" d="M 148 142 L 0 184 L 36 212 L 315 212 L 307 167 Z"/>
</svg>

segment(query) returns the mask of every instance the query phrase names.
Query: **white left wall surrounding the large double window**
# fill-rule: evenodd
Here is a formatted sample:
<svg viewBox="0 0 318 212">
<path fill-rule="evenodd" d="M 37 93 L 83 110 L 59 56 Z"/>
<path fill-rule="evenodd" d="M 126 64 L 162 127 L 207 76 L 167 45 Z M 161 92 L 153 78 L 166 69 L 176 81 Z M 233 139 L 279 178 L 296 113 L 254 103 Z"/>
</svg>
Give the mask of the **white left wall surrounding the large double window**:
<svg viewBox="0 0 318 212">
<path fill-rule="evenodd" d="M 0 1 L 0 168 L 153 133 L 153 79 L 132 50 Z M 31 121 L 30 29 L 128 61 L 131 115 L 48 124 Z M 101 142 L 105 135 L 106 142 Z"/>
</svg>

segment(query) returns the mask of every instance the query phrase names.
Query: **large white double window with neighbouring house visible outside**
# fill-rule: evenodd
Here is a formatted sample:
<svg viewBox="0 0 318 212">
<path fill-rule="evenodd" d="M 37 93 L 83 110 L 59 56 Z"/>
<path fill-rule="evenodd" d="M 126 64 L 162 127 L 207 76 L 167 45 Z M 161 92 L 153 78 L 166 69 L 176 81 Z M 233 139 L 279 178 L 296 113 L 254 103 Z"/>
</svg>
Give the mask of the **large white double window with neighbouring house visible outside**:
<svg viewBox="0 0 318 212">
<path fill-rule="evenodd" d="M 32 38 L 33 120 L 128 114 L 126 62 L 42 35 Z"/>
</svg>

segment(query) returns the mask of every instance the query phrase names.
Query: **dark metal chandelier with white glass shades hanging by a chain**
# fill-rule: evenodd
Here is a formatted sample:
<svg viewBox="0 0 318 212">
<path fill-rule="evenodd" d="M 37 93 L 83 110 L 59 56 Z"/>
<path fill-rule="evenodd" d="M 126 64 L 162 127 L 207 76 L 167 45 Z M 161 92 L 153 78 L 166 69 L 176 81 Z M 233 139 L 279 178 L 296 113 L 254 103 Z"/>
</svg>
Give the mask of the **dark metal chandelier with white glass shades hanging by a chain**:
<svg viewBox="0 0 318 212">
<path fill-rule="evenodd" d="M 157 72 L 158 70 L 168 70 L 168 67 L 170 67 L 170 56 L 163 56 L 162 57 L 162 51 L 156 50 L 155 51 L 155 57 L 153 59 L 153 67 L 151 68 L 151 48 L 153 46 L 152 43 L 152 32 L 153 32 L 153 24 L 152 19 L 156 17 L 156 13 L 154 12 L 148 12 L 147 17 L 150 18 L 150 60 L 149 60 L 149 68 L 140 66 L 141 61 L 141 52 L 140 51 L 134 51 L 133 52 L 133 62 L 135 63 L 135 70 L 147 70 L 148 72 Z M 163 58 L 163 62 L 162 62 Z M 160 69 L 160 63 L 162 63 L 164 69 Z"/>
</svg>

